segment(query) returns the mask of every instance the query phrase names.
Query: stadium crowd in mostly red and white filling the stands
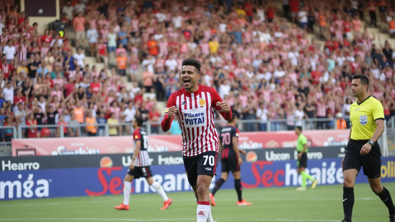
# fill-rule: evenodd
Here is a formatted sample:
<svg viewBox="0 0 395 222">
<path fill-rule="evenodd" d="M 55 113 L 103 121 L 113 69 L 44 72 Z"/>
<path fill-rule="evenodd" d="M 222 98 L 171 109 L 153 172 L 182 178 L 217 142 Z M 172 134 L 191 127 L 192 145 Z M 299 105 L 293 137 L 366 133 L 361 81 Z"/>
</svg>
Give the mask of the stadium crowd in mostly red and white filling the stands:
<svg viewBox="0 0 395 222">
<path fill-rule="evenodd" d="M 355 101 L 350 79 L 360 73 L 369 77 L 369 92 L 389 120 L 395 116 L 395 52 L 387 41 L 372 44 L 376 37 L 361 19 L 368 6 L 377 25 L 378 9 L 382 24 L 394 32 L 393 2 L 335 2 L 284 0 L 278 17 L 278 5 L 264 0 L 61 0 L 62 21 L 75 32 L 73 41 L 53 30 L 39 33 L 18 6 L 0 1 L 1 124 L 74 124 L 64 127 L 72 137 L 104 133 L 104 126 L 75 127 L 81 123 L 117 124 L 135 116 L 157 122 L 162 113 L 156 102 L 181 87 L 182 59 L 192 56 L 202 63 L 200 84 L 216 88 L 241 119 L 259 119 L 244 131 L 265 131 L 267 120 L 271 130 L 280 130 L 279 119 L 286 119 L 288 130 L 313 118 L 339 117 L 347 124 L 337 127 L 349 127 L 348 108 Z M 309 41 L 309 33 L 318 38 Z M 85 53 L 105 68 L 87 64 Z M 130 76 L 132 88 L 123 75 Z M 146 92 L 155 98 L 144 100 Z M 326 123 L 309 126 L 333 124 Z M 157 125 L 152 130 L 157 132 Z M 109 126 L 110 135 L 129 131 Z M 23 130 L 24 137 L 59 133 L 59 128 Z M 9 141 L 12 130 L 0 130 L 0 137 Z"/>
</svg>

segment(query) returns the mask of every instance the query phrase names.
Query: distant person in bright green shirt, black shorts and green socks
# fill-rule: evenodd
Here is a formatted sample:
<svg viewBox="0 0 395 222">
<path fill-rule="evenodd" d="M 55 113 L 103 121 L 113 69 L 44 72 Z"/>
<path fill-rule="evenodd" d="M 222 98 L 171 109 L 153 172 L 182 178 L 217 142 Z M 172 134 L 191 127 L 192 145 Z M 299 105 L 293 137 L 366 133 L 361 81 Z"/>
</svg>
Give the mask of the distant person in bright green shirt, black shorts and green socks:
<svg viewBox="0 0 395 222">
<path fill-rule="evenodd" d="M 295 127 L 295 134 L 298 135 L 297 138 L 297 173 L 302 175 L 302 186 L 297 188 L 296 190 L 306 190 L 306 181 L 309 179 L 312 181 L 311 189 L 316 188 L 318 180 L 314 180 L 312 176 L 305 172 L 307 167 L 307 138 L 302 134 L 302 128 L 300 126 Z"/>
</svg>

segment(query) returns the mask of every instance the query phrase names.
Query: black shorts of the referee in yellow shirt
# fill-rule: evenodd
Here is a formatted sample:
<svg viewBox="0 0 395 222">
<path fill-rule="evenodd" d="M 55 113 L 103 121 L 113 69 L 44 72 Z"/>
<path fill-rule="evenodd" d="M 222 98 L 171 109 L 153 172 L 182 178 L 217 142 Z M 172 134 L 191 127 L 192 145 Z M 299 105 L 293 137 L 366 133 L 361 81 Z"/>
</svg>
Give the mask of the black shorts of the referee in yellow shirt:
<svg viewBox="0 0 395 222">
<path fill-rule="evenodd" d="M 344 156 L 343 171 L 356 169 L 359 173 L 363 167 L 363 174 L 369 178 L 378 178 L 381 175 L 381 152 L 378 143 L 372 145 L 371 151 L 366 155 L 361 155 L 361 149 L 368 140 L 350 139 Z"/>
</svg>

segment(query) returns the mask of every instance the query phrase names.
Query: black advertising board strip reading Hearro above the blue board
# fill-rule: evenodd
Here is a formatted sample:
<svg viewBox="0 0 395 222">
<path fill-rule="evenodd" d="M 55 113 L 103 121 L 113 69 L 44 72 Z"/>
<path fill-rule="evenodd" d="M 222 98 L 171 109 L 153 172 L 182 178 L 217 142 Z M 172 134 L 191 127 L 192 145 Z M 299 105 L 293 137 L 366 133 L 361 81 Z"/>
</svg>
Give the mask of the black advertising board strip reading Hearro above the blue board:
<svg viewBox="0 0 395 222">
<path fill-rule="evenodd" d="M 343 157 L 344 147 L 310 147 L 307 157 L 310 160 Z M 243 161 L 296 160 L 294 148 L 246 149 Z M 38 169 L 85 168 L 107 166 L 129 166 L 133 154 L 58 155 L 58 156 L 18 156 L 0 157 L 0 171 L 21 171 Z M 183 164 L 182 154 L 177 152 L 151 152 L 152 165 Z"/>
</svg>

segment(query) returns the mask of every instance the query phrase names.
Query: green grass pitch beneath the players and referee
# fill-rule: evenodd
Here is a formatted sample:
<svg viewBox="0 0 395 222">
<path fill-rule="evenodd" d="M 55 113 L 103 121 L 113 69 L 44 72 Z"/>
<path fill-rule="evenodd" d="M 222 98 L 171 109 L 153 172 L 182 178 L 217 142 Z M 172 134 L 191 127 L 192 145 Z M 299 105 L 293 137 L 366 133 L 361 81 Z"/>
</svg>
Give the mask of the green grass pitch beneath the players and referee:
<svg viewBox="0 0 395 222">
<path fill-rule="evenodd" d="M 228 181 L 233 182 L 233 181 Z M 395 197 L 395 183 L 383 184 Z M 132 194 L 130 210 L 113 207 L 123 196 L 51 198 L 0 201 L 0 221 L 196 221 L 196 200 L 192 192 L 168 193 L 173 199 L 169 209 L 161 211 L 158 194 Z M 237 206 L 235 190 L 219 190 L 216 207 L 211 207 L 218 222 L 295 221 L 340 222 L 343 219 L 342 186 L 317 186 L 315 190 L 295 188 L 244 189 L 243 198 L 251 206 Z M 394 198 L 393 198 L 394 199 Z M 353 222 L 388 222 L 388 210 L 369 184 L 355 186 Z"/>
</svg>

